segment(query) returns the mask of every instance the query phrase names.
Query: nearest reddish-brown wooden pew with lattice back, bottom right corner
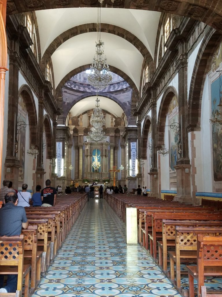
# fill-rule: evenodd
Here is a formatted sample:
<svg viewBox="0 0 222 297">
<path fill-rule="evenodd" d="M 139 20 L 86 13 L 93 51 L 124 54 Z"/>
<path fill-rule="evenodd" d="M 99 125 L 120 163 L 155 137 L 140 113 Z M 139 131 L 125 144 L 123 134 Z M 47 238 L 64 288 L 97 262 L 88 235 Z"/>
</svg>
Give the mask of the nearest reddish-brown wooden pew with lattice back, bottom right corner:
<svg viewBox="0 0 222 297">
<path fill-rule="evenodd" d="M 186 266 L 189 277 L 189 297 L 194 297 L 194 278 L 197 279 L 197 297 L 206 276 L 222 276 L 222 237 L 197 236 L 197 266 Z M 222 295 L 222 294 L 221 294 Z M 212 297 L 212 295 L 210 295 Z"/>
</svg>

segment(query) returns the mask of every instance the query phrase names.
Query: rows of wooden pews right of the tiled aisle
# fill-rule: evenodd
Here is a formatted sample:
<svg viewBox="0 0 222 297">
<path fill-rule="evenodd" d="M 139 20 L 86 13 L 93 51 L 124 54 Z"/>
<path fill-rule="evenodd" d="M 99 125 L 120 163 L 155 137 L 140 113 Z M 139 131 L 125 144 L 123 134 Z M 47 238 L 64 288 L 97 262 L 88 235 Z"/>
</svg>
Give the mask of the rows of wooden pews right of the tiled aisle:
<svg viewBox="0 0 222 297">
<path fill-rule="evenodd" d="M 189 297 L 194 297 L 196 292 L 200 297 L 205 277 L 217 276 L 222 280 L 222 212 L 218 202 L 204 202 L 202 207 L 173 201 L 173 196 L 161 200 L 127 194 L 107 195 L 106 200 L 125 223 L 126 208 L 136 208 L 138 243 L 181 295 L 188 295 L 181 285 L 181 274 L 183 279 L 188 279 L 189 274 Z M 211 251 L 207 252 L 208 257 L 206 250 Z M 190 266 L 190 262 L 195 265 Z M 197 290 L 194 290 L 194 279 L 197 279 Z"/>
</svg>

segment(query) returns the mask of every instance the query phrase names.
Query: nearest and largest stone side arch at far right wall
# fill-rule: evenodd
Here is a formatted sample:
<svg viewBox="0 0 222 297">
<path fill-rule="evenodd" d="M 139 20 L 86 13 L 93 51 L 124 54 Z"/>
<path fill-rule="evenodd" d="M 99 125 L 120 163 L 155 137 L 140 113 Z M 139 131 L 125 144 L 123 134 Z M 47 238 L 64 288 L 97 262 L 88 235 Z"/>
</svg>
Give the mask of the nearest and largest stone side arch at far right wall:
<svg viewBox="0 0 222 297">
<path fill-rule="evenodd" d="M 222 40 L 222 34 L 210 28 L 205 35 L 192 73 L 189 98 L 187 128 L 189 131 L 200 129 L 203 83 L 209 71 L 212 55 Z"/>
</svg>

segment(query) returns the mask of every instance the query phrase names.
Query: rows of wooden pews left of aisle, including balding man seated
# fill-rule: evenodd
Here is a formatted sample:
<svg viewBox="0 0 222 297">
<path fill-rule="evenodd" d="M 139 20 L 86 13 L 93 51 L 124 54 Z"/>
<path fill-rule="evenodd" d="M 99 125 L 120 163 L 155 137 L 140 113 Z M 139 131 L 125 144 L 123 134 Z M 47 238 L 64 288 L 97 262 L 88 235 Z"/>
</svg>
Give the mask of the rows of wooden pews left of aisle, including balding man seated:
<svg viewBox="0 0 222 297">
<path fill-rule="evenodd" d="M 76 192 L 46 199 L 51 207 L 24 208 L 15 192 L 7 193 L 0 208 L 0 296 L 33 294 L 86 200 Z"/>
</svg>

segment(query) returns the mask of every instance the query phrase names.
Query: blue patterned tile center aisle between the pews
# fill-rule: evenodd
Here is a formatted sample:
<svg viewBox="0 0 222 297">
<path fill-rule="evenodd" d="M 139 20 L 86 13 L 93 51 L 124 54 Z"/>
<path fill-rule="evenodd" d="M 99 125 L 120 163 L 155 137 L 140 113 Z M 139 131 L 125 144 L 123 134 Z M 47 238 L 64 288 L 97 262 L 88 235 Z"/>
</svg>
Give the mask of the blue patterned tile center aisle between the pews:
<svg viewBox="0 0 222 297">
<path fill-rule="evenodd" d="M 180 297 L 103 200 L 90 199 L 32 297 Z"/>
</svg>

